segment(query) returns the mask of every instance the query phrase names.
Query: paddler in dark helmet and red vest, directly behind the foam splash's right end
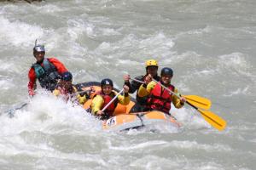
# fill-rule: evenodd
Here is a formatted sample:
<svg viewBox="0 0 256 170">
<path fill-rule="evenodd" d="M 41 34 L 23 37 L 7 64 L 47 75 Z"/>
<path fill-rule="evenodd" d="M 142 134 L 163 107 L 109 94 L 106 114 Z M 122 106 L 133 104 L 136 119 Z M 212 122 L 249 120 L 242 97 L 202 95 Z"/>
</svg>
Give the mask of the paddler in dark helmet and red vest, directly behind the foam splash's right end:
<svg viewBox="0 0 256 170">
<path fill-rule="evenodd" d="M 120 95 L 113 100 L 111 105 L 108 103 L 116 96 L 116 92 L 113 91 L 113 82 L 109 78 L 103 79 L 101 82 L 102 90 L 96 94 L 96 96 L 92 99 L 92 103 L 90 106 L 92 114 L 95 116 L 99 116 L 100 119 L 106 120 L 109 117 L 113 116 L 113 111 L 115 107 L 119 104 L 128 105 L 130 103 L 130 96 L 128 94 L 129 87 L 124 85 L 124 95 Z M 108 105 L 108 108 L 105 111 L 102 109 Z"/>
</svg>

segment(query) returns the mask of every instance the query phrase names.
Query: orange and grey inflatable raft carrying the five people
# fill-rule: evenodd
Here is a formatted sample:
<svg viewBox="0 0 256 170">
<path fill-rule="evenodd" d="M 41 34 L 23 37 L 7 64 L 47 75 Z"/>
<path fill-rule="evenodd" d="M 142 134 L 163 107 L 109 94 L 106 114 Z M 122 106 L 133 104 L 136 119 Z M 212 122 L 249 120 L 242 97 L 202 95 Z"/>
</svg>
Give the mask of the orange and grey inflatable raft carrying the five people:
<svg viewBox="0 0 256 170">
<path fill-rule="evenodd" d="M 84 82 L 76 85 L 79 90 L 85 90 L 90 86 L 96 89 L 96 92 L 101 90 L 100 82 Z M 116 88 L 115 91 L 119 92 Z M 90 99 L 84 104 L 84 109 L 90 108 L 91 100 L 94 94 L 90 95 Z M 102 128 L 106 130 L 123 131 L 131 128 L 141 127 L 154 127 L 154 125 L 168 126 L 168 127 L 180 127 L 180 123 L 177 122 L 175 117 L 169 116 L 161 111 L 147 111 L 131 113 L 132 107 L 135 105 L 136 100 L 131 98 L 129 105 L 118 104 L 113 117 L 107 121 L 102 122 Z"/>
</svg>

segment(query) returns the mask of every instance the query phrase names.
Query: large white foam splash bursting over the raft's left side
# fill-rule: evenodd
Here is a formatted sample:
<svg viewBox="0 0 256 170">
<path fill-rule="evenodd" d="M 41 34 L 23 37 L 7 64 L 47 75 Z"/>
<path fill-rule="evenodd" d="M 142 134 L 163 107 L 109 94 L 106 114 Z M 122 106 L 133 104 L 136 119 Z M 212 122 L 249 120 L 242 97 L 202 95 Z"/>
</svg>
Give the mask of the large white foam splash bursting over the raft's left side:
<svg viewBox="0 0 256 170">
<path fill-rule="evenodd" d="M 73 105 L 52 94 L 40 94 L 38 91 L 26 110 L 15 111 L 15 117 L 2 116 L 0 122 L 3 124 L 1 135 L 10 135 L 34 131 L 44 133 L 81 132 L 85 130 L 97 131 L 102 129 L 101 123 L 96 121 L 79 105 Z M 15 126 L 12 126 L 15 125 Z M 93 127 L 93 128 L 92 128 Z"/>
</svg>

